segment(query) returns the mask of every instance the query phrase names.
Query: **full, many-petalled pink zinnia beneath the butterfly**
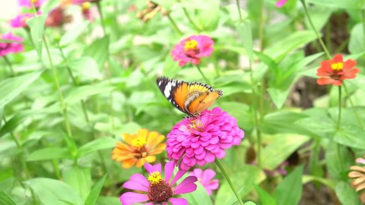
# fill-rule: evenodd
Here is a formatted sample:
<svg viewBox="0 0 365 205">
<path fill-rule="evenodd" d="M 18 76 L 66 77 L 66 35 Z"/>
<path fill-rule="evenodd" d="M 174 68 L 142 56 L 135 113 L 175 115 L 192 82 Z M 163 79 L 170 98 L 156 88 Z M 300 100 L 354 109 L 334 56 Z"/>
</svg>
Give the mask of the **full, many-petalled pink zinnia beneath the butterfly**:
<svg viewBox="0 0 365 205">
<path fill-rule="evenodd" d="M 166 150 L 180 170 L 213 162 L 225 156 L 225 149 L 240 145 L 244 131 L 237 119 L 220 108 L 205 110 L 196 118 L 181 120 L 167 134 Z"/>
</svg>

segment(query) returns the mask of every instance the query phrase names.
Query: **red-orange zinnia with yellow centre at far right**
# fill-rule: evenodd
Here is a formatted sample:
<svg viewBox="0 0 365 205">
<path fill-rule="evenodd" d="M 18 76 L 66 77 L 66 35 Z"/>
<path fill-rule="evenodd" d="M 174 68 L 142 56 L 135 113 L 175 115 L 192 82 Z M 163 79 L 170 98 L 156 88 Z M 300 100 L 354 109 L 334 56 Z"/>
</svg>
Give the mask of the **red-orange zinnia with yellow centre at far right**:
<svg viewBox="0 0 365 205">
<path fill-rule="evenodd" d="M 341 54 L 335 55 L 333 59 L 323 60 L 321 67 L 317 70 L 318 85 L 332 84 L 334 86 L 342 85 L 344 79 L 355 78 L 356 74 L 360 72 L 356 66 L 356 60 L 348 59 L 343 61 Z"/>
</svg>

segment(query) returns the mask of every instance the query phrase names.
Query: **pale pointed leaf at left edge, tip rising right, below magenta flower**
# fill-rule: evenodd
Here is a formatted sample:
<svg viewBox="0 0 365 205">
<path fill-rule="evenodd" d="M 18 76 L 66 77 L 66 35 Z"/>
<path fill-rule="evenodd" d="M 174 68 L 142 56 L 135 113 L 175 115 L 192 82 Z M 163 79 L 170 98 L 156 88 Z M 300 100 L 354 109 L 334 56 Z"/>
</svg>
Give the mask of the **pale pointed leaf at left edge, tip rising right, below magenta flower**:
<svg viewBox="0 0 365 205">
<path fill-rule="evenodd" d="M 18 96 L 34 82 L 43 71 L 7 78 L 0 82 L 0 108 Z"/>
</svg>

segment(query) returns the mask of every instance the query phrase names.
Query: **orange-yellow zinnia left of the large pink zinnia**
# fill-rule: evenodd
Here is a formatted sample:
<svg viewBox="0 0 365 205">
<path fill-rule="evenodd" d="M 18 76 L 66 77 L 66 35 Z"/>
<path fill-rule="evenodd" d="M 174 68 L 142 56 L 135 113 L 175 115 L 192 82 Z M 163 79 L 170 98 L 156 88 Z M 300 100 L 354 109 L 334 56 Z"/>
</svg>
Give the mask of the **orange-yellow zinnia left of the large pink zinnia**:
<svg viewBox="0 0 365 205">
<path fill-rule="evenodd" d="M 140 168 L 144 163 L 151 163 L 156 160 L 157 154 L 163 152 L 166 144 L 162 143 L 165 136 L 158 132 L 148 132 L 147 129 L 140 129 L 136 134 L 123 134 L 123 142 L 117 142 L 113 149 L 111 158 L 122 162 L 122 167 L 129 169 L 136 165 Z"/>
</svg>

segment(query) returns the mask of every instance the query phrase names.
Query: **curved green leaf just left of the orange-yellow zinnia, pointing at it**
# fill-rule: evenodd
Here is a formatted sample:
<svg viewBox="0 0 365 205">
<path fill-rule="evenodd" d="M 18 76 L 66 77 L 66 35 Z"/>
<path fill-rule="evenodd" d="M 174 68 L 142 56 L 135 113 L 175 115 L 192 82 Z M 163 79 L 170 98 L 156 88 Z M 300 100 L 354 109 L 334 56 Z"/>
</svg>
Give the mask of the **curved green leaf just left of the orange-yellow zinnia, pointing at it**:
<svg viewBox="0 0 365 205">
<path fill-rule="evenodd" d="M 117 139 L 111 137 L 100 137 L 83 145 L 79 149 L 78 156 L 82 157 L 98 150 L 114 148 L 116 143 Z"/>
</svg>

